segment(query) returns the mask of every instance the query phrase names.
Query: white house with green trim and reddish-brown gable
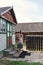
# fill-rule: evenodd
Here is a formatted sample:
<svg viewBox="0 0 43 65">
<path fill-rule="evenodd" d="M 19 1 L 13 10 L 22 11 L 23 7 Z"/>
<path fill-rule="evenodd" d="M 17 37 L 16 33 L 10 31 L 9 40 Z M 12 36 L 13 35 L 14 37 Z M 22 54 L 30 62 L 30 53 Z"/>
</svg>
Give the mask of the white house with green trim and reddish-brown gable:
<svg viewBox="0 0 43 65">
<path fill-rule="evenodd" d="M 0 8 L 0 51 L 15 44 L 15 26 L 17 20 L 13 7 Z"/>
</svg>

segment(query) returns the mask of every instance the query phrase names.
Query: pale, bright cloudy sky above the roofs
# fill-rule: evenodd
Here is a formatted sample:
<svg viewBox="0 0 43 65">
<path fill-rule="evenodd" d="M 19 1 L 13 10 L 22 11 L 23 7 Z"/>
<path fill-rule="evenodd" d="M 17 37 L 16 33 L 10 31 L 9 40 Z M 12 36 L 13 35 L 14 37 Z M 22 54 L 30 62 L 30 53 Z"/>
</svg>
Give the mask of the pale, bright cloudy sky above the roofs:
<svg viewBox="0 0 43 65">
<path fill-rule="evenodd" d="M 43 22 L 43 0 L 0 0 L 6 6 L 13 6 L 18 23 Z"/>
</svg>

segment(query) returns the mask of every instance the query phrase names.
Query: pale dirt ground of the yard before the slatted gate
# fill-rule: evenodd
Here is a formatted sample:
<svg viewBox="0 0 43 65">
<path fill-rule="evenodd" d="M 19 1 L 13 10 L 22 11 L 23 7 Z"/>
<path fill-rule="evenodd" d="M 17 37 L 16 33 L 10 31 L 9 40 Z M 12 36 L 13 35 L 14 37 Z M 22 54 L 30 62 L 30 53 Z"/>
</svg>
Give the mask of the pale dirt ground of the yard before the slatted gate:
<svg viewBox="0 0 43 65">
<path fill-rule="evenodd" d="M 22 50 L 28 51 L 31 55 L 26 55 L 25 58 L 6 58 L 11 61 L 27 61 L 27 62 L 40 62 L 43 63 L 43 52 L 26 50 L 26 44 L 23 45 Z"/>
</svg>

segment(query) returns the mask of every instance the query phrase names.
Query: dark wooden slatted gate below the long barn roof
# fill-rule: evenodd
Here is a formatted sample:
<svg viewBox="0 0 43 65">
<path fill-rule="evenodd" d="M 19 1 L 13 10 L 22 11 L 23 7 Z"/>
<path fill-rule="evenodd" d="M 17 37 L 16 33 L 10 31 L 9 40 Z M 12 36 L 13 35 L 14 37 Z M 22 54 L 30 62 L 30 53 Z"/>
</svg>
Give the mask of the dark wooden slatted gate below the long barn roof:
<svg viewBox="0 0 43 65">
<path fill-rule="evenodd" d="M 43 50 L 43 37 L 26 37 L 26 48 L 30 51 L 42 51 Z"/>
</svg>

